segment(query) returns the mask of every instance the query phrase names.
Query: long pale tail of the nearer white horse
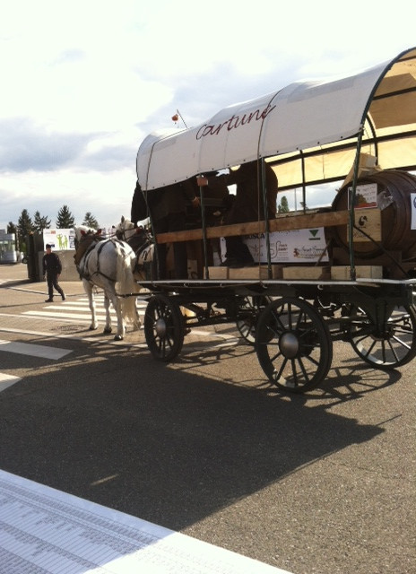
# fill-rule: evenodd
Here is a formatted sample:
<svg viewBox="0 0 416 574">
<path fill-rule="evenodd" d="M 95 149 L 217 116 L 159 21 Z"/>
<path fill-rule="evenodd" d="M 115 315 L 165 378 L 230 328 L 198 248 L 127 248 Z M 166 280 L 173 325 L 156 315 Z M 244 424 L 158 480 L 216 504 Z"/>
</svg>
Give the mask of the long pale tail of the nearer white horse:
<svg viewBox="0 0 416 574">
<path fill-rule="evenodd" d="M 139 293 L 140 288 L 134 281 L 135 255 L 133 249 L 128 245 L 117 241 L 117 248 L 120 249 L 123 257 L 117 257 L 117 283 L 116 291 L 120 295 L 126 295 L 123 300 L 123 315 L 126 320 L 133 324 L 137 323 L 137 309 L 135 307 L 135 297 L 130 297 L 133 293 Z"/>
</svg>

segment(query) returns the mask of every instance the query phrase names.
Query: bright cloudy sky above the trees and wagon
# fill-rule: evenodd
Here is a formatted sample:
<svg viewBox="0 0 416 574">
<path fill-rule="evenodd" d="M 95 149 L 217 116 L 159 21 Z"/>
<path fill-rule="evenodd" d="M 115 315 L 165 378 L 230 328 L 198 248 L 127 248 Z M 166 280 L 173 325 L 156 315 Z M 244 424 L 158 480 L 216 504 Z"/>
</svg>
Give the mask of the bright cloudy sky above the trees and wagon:
<svg viewBox="0 0 416 574">
<path fill-rule="evenodd" d="M 390 7 L 392 6 L 392 7 Z M 388 7 L 388 8 L 387 8 Z M 416 46 L 416 2 L 13 0 L 0 6 L 0 229 L 129 217 L 137 150 L 291 82 Z"/>
</svg>

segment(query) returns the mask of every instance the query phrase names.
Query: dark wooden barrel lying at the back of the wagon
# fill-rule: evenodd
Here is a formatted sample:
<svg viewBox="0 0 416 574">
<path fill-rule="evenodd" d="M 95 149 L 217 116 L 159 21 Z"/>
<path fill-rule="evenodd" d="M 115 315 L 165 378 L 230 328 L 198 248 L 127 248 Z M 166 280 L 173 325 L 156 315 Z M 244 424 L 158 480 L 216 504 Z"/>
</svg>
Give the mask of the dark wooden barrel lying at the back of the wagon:
<svg viewBox="0 0 416 574">
<path fill-rule="evenodd" d="M 411 194 L 416 193 L 416 177 L 407 171 L 379 171 L 360 178 L 357 187 L 368 184 L 377 184 L 381 240 L 377 240 L 378 245 L 369 240 L 354 240 L 354 254 L 356 257 L 371 258 L 385 251 L 401 251 L 403 260 L 416 257 L 416 230 L 411 229 Z M 339 190 L 332 204 L 333 211 L 348 209 L 348 187 L 351 187 L 351 182 Z M 349 250 L 346 226 L 333 229 L 334 244 Z"/>
</svg>

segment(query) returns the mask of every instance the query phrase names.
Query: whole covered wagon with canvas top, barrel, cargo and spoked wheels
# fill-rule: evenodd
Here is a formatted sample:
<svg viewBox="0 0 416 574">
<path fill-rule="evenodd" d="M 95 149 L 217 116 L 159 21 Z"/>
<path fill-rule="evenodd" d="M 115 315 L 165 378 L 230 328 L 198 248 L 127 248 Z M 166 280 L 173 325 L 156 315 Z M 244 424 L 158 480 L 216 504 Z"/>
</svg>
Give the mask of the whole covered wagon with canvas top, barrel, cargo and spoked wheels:
<svg viewBox="0 0 416 574">
<path fill-rule="evenodd" d="M 145 335 L 153 356 L 175 358 L 189 326 L 236 321 L 267 377 L 292 392 L 325 378 L 337 338 L 376 368 L 411 361 L 416 48 L 359 74 L 291 83 L 199 126 L 148 135 L 137 178 L 152 204 L 160 189 L 248 162 L 257 167 L 256 220 L 207 222 L 206 188 L 199 187 L 200 217 L 184 230 L 154 234 L 156 254 L 160 245 L 186 241 L 197 246 L 198 265 L 180 279 L 158 276 L 154 265 L 141 282 L 152 292 Z M 270 168 L 278 198 L 295 193 L 300 209 L 268 215 Z M 325 207 L 308 207 L 316 190 L 328 194 Z M 227 237 L 243 238 L 255 265 L 221 265 L 212 240 Z"/>
</svg>

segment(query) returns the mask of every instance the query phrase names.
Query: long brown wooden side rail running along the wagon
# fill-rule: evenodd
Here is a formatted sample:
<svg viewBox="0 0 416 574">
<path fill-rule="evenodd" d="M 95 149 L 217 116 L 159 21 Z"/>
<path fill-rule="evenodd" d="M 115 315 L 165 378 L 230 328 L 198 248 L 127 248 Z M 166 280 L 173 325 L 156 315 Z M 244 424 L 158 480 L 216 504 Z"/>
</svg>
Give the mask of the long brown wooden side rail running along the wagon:
<svg viewBox="0 0 416 574">
<path fill-rule="evenodd" d="M 308 213 L 306 215 L 296 215 L 288 217 L 278 217 L 269 220 L 271 231 L 303 230 L 316 227 L 333 227 L 344 225 L 350 221 L 350 212 L 325 212 Z M 233 235 L 255 235 L 264 233 L 264 222 L 236 223 L 235 225 L 219 225 L 206 228 L 207 239 L 220 237 L 230 237 Z M 156 236 L 158 243 L 174 243 L 176 241 L 192 241 L 203 239 L 203 230 L 169 231 L 169 233 L 159 233 Z"/>
</svg>

